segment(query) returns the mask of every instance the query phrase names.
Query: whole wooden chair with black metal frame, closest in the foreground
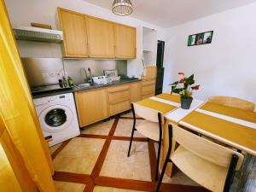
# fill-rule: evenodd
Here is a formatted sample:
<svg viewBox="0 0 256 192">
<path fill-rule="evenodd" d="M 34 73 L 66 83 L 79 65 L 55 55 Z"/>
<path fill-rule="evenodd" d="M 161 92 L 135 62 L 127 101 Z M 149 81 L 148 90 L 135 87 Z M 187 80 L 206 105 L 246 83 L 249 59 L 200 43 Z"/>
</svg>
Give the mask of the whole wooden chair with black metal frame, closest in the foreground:
<svg viewBox="0 0 256 192">
<path fill-rule="evenodd" d="M 156 192 L 164 177 L 168 162 L 172 162 L 196 183 L 211 191 L 230 191 L 235 172 L 244 156 L 230 148 L 212 143 L 178 126 L 169 125 L 169 148 Z M 172 138 L 179 146 L 171 155 Z"/>
</svg>

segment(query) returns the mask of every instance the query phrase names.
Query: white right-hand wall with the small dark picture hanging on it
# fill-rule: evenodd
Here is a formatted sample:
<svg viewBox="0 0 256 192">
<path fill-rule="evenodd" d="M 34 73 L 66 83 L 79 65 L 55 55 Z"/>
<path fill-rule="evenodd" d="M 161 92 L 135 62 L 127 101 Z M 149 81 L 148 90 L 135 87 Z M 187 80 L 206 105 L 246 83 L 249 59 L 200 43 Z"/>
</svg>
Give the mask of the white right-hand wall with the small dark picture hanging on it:
<svg viewBox="0 0 256 192">
<path fill-rule="evenodd" d="M 195 73 L 196 98 L 236 96 L 256 102 L 256 3 L 175 26 L 166 32 L 164 89 L 179 71 Z M 213 30 L 212 44 L 188 47 L 190 34 Z"/>
</svg>

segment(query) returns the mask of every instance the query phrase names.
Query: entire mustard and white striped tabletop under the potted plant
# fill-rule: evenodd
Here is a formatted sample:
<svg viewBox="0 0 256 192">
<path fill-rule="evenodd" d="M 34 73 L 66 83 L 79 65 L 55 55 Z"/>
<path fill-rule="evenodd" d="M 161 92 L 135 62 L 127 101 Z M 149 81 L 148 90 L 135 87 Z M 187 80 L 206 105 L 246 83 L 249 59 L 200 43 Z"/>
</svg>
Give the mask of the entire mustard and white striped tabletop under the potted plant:
<svg viewBox="0 0 256 192">
<path fill-rule="evenodd" d="M 256 156 L 256 113 L 194 100 L 190 110 L 180 107 L 179 96 L 161 94 L 137 102 L 165 113 L 166 119 Z"/>
</svg>

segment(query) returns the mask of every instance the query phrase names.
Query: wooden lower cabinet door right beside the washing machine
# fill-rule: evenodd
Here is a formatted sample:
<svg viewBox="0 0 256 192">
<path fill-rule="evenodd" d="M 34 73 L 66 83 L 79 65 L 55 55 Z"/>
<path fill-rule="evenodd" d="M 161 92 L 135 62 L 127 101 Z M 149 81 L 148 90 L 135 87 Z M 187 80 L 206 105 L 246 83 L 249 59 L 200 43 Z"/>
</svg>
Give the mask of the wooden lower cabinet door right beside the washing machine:
<svg viewBox="0 0 256 192">
<path fill-rule="evenodd" d="M 75 97 L 81 127 L 108 118 L 106 89 L 76 92 Z"/>
</svg>

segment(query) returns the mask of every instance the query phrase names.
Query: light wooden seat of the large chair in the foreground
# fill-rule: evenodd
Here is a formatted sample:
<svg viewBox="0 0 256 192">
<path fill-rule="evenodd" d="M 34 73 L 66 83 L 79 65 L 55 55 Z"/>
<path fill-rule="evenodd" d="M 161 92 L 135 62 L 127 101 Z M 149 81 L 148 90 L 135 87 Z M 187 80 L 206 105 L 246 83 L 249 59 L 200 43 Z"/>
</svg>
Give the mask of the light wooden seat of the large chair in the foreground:
<svg viewBox="0 0 256 192">
<path fill-rule="evenodd" d="M 212 191 L 223 191 L 228 169 L 218 166 L 179 146 L 171 155 L 172 162 L 196 183 Z"/>
</svg>

